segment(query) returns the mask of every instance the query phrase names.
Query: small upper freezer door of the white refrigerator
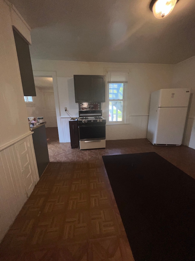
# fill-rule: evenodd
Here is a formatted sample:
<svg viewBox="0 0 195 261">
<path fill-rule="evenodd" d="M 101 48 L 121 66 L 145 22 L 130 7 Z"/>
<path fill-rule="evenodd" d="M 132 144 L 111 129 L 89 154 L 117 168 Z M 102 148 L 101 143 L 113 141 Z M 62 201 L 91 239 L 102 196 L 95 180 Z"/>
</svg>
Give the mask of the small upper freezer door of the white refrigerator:
<svg viewBox="0 0 195 261">
<path fill-rule="evenodd" d="M 158 107 L 188 107 L 190 89 L 161 89 Z"/>
</svg>

